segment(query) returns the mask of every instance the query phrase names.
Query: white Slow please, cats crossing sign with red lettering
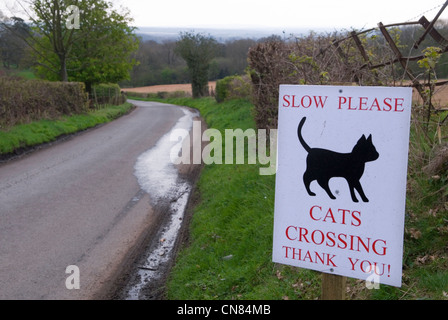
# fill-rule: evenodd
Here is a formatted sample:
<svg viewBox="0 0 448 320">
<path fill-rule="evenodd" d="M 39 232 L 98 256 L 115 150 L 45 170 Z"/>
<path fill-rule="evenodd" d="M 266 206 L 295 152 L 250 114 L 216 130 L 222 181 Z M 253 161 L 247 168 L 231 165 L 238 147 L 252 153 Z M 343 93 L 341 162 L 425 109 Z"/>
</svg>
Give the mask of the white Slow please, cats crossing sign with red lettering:
<svg viewBox="0 0 448 320">
<path fill-rule="evenodd" d="M 401 286 L 411 88 L 281 85 L 273 261 Z"/>
</svg>

